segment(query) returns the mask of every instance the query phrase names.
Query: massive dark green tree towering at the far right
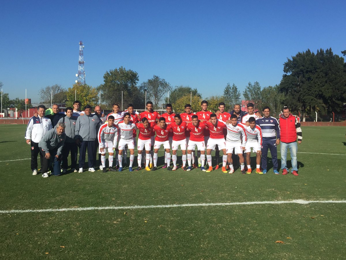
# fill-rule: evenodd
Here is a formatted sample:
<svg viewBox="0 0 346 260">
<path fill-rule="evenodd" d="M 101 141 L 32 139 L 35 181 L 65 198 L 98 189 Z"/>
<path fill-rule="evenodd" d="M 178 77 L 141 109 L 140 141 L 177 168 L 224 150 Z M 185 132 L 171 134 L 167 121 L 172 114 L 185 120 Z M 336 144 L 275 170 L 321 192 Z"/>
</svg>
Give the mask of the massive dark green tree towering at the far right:
<svg viewBox="0 0 346 260">
<path fill-rule="evenodd" d="M 340 112 L 346 101 L 346 66 L 331 49 L 298 52 L 284 63 L 280 91 L 293 111 Z"/>
</svg>

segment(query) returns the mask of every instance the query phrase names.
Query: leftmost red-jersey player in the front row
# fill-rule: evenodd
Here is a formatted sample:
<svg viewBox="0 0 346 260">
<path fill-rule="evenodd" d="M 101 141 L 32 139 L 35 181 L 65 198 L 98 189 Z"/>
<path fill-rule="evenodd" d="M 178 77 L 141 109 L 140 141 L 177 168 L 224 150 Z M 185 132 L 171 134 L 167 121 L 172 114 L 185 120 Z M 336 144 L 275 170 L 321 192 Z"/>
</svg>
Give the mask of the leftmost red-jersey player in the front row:
<svg viewBox="0 0 346 260">
<path fill-rule="evenodd" d="M 142 170 L 142 152 L 145 147 L 145 170 L 150 171 L 149 162 L 150 162 L 150 150 L 151 150 L 151 135 L 153 132 L 153 124 L 149 124 L 147 118 L 142 118 L 142 121 L 136 124 L 138 132 L 138 168 L 136 171 Z"/>
</svg>

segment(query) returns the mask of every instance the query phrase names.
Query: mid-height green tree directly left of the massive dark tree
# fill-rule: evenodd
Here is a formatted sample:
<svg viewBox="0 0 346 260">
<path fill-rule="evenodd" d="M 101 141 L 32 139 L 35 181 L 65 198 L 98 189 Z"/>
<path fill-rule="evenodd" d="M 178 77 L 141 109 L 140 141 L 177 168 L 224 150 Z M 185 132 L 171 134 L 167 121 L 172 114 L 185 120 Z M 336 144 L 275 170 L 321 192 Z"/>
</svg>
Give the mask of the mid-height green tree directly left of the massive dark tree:
<svg viewBox="0 0 346 260">
<path fill-rule="evenodd" d="M 280 113 L 283 99 L 284 95 L 280 93 L 279 85 L 275 85 L 274 87 L 268 86 L 262 89 L 262 108 L 269 106 L 272 115 Z"/>
</svg>

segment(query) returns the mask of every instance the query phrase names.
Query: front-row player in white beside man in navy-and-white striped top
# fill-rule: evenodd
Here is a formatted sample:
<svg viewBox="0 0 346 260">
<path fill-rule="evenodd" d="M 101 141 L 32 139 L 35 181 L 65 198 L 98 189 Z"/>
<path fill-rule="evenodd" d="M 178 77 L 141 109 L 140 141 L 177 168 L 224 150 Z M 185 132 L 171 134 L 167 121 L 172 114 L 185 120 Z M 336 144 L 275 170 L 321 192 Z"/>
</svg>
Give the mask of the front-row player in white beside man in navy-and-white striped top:
<svg viewBox="0 0 346 260">
<path fill-rule="evenodd" d="M 254 117 L 249 118 L 249 126 L 245 127 L 245 132 L 247 136 L 247 142 L 245 145 L 245 153 L 246 153 L 246 164 L 247 164 L 247 172 L 251 173 L 251 165 L 250 165 L 250 156 L 251 156 L 251 148 L 256 153 L 256 173 L 263 174 L 260 169 L 261 164 L 261 146 L 262 146 L 262 130 L 256 125 L 256 119 Z"/>
</svg>

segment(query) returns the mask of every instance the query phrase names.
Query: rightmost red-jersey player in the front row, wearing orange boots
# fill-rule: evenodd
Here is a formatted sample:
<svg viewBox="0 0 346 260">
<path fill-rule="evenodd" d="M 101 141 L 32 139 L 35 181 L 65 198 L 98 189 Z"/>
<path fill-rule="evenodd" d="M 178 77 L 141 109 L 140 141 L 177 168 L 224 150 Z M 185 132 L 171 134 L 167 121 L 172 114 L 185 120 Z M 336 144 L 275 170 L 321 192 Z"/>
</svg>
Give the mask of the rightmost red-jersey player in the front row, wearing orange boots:
<svg viewBox="0 0 346 260">
<path fill-rule="evenodd" d="M 224 136 L 224 129 L 226 128 L 226 125 L 217 120 L 216 114 L 210 115 L 210 121 L 211 122 L 206 123 L 206 125 L 210 131 L 210 138 L 208 140 L 208 145 L 207 145 L 207 161 L 208 161 L 208 165 L 209 165 L 209 169 L 207 170 L 207 172 L 211 172 L 213 170 L 212 159 L 211 159 L 211 150 L 216 151 L 216 146 L 218 146 L 219 149 L 221 149 L 223 152 L 222 172 L 227 173 L 227 171 L 226 171 L 226 164 L 227 164 L 226 140 L 225 140 L 225 136 Z M 215 170 L 217 170 L 217 169 L 215 169 Z"/>
</svg>

